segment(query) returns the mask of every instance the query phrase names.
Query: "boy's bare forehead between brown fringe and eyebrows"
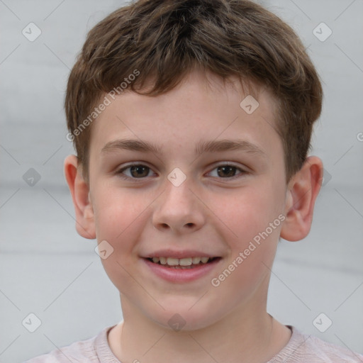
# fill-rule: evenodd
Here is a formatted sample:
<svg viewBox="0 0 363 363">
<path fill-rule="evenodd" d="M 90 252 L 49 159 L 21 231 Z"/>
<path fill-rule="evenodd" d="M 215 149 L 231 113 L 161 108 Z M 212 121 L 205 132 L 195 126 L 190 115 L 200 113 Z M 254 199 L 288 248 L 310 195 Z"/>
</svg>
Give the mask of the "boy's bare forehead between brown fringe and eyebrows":
<svg viewBox="0 0 363 363">
<path fill-rule="evenodd" d="M 237 77 L 223 82 L 195 71 L 166 94 L 126 91 L 110 101 L 93 125 L 91 150 L 97 153 L 125 137 L 194 152 L 201 141 L 217 139 L 245 139 L 262 150 L 277 142 L 274 97 L 256 85 L 242 86 Z"/>
</svg>

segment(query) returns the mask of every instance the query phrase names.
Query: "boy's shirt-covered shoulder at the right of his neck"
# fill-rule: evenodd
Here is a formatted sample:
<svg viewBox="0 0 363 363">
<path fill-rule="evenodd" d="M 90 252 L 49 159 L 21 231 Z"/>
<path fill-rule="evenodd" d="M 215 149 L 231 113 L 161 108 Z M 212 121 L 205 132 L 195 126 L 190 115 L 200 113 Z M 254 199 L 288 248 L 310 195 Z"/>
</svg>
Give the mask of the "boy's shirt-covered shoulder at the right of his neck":
<svg viewBox="0 0 363 363">
<path fill-rule="evenodd" d="M 289 328 L 292 330 L 289 343 L 269 363 L 284 362 L 288 358 L 296 363 L 363 363 L 362 354 L 325 342 L 313 335 L 303 334 L 294 327 Z"/>
</svg>

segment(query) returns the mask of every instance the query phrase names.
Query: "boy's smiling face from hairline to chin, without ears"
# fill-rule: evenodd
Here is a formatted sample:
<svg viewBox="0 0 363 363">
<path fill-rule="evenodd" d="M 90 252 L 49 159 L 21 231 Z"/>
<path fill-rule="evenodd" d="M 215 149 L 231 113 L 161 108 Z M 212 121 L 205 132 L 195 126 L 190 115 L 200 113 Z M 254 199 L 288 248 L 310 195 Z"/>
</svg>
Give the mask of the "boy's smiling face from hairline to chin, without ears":
<svg viewBox="0 0 363 363">
<path fill-rule="evenodd" d="M 266 311 L 269 268 L 289 208 L 274 99 L 261 91 L 259 106 L 248 114 L 237 79 L 234 87 L 212 74 L 208 79 L 210 87 L 193 72 L 157 97 L 125 92 L 91 131 L 89 218 L 98 242 L 113 247 L 102 259 L 106 273 L 123 306 L 165 326 L 177 313 L 184 329 L 238 311 Z M 126 139 L 155 145 L 160 153 L 117 147 Z M 195 151 L 220 140 L 238 140 L 242 147 Z M 120 171 L 130 163 L 140 167 Z M 111 250 L 108 244 L 104 249 Z M 194 270 L 145 258 L 178 253 L 218 259 Z"/>
</svg>

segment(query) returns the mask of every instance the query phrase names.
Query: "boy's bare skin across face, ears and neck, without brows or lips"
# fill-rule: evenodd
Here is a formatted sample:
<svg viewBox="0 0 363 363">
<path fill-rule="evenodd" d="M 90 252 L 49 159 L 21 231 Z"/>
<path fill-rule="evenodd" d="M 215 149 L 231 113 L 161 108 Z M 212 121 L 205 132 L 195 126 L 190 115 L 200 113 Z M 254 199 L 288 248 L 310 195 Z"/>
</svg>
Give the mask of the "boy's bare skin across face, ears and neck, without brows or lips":
<svg viewBox="0 0 363 363">
<path fill-rule="evenodd" d="M 101 262 L 120 291 L 123 322 L 108 342 L 123 363 L 267 362 L 291 337 L 267 313 L 270 269 L 279 237 L 296 241 L 308 235 L 323 165 L 308 157 L 286 184 L 284 151 L 272 127 L 274 97 L 260 89 L 259 106 L 249 115 L 240 107 L 247 94 L 237 79 L 230 81 L 223 85 L 215 75 L 194 70 L 161 96 L 125 92 L 92 125 L 89 183 L 77 157 L 65 160 L 78 233 L 113 247 Z M 263 154 L 194 153 L 200 140 L 237 137 Z M 101 151 L 121 138 L 155 143 L 162 152 Z M 150 169 L 142 177 L 130 168 L 118 173 L 129 162 Z M 226 162 L 236 169 L 220 171 Z M 167 179 L 175 167 L 186 176 L 179 186 Z M 212 286 L 211 279 L 278 216 L 286 219 Z M 206 277 L 173 284 L 156 277 L 140 257 L 162 248 L 222 259 Z M 180 331 L 168 324 L 175 313 L 185 321 Z"/>
</svg>

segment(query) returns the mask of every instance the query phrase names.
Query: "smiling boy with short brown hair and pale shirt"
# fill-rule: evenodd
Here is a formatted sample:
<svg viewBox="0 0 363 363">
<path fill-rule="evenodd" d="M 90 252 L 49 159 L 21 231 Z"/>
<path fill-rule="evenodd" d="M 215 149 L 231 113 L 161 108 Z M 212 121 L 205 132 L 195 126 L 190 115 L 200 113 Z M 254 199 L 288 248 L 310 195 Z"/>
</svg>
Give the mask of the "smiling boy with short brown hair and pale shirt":
<svg viewBox="0 0 363 363">
<path fill-rule="evenodd" d="M 123 321 L 28 362 L 363 362 L 266 309 L 279 238 L 311 228 L 321 101 L 294 31 L 250 1 L 139 0 L 96 25 L 65 176 Z"/>
</svg>

